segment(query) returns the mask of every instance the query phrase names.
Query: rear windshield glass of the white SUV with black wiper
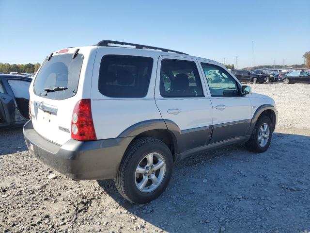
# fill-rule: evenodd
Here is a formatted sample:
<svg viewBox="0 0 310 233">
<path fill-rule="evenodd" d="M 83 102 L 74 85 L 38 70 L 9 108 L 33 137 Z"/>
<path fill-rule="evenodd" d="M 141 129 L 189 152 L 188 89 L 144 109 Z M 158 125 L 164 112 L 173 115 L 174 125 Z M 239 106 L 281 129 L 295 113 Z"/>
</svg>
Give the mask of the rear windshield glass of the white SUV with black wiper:
<svg viewBox="0 0 310 233">
<path fill-rule="evenodd" d="M 53 100 L 73 97 L 78 90 L 83 58 L 82 54 L 78 54 L 74 59 L 72 54 L 62 54 L 44 61 L 33 83 L 34 94 Z M 53 88 L 54 90 L 51 90 Z"/>
</svg>

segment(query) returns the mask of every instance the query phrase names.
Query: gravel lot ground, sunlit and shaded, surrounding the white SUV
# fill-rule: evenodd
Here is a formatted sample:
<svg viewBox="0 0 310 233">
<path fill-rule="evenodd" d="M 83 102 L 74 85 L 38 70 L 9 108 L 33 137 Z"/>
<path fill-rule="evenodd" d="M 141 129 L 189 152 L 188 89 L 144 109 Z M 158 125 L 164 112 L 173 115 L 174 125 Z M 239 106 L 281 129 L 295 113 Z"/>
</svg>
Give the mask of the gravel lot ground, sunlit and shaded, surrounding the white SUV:
<svg viewBox="0 0 310 233">
<path fill-rule="evenodd" d="M 252 89 L 279 110 L 269 150 L 194 155 L 149 204 L 123 200 L 112 180 L 70 180 L 32 157 L 21 129 L 1 131 L 0 232 L 308 232 L 310 85 Z"/>
</svg>

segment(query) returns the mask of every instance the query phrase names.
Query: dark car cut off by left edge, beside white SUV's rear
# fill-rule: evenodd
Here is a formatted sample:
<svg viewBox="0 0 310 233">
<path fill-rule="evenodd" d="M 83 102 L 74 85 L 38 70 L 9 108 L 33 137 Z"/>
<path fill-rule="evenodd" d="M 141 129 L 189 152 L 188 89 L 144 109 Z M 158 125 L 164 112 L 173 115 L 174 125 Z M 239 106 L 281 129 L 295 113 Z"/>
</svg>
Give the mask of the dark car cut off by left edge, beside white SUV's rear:
<svg viewBox="0 0 310 233">
<path fill-rule="evenodd" d="M 0 128 L 21 126 L 29 120 L 31 79 L 0 74 Z"/>
</svg>

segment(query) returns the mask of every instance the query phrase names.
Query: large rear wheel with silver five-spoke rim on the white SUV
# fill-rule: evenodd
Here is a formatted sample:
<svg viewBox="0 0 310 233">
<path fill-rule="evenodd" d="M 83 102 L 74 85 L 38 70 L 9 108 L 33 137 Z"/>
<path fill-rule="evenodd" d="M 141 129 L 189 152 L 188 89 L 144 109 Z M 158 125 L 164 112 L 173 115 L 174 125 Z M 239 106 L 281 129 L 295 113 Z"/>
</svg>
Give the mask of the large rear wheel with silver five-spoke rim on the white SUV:
<svg viewBox="0 0 310 233">
<path fill-rule="evenodd" d="M 144 137 L 127 148 L 114 182 L 126 200 L 147 203 L 165 191 L 172 168 L 172 154 L 167 145 L 155 138 Z"/>
</svg>

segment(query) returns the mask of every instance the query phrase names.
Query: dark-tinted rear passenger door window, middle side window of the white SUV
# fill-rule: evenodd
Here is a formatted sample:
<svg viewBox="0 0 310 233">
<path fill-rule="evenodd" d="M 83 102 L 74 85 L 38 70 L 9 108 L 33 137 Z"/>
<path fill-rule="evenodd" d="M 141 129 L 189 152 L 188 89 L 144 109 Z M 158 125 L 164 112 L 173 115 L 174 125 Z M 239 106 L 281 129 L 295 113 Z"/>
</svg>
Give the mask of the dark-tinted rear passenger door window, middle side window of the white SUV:
<svg viewBox="0 0 310 233">
<path fill-rule="evenodd" d="M 195 62 L 163 59 L 160 67 L 162 97 L 203 97 L 202 83 Z"/>
</svg>

